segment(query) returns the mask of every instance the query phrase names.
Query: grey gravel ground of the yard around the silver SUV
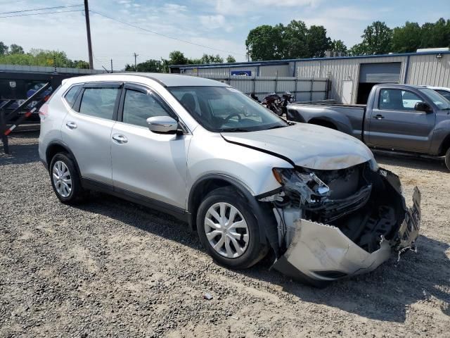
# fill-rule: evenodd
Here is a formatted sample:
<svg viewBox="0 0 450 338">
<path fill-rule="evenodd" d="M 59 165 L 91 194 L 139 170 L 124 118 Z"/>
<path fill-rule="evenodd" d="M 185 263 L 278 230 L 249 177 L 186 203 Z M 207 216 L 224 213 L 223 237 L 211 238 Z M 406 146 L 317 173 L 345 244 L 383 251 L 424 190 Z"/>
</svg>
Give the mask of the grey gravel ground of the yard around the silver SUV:
<svg viewBox="0 0 450 338">
<path fill-rule="evenodd" d="M 409 199 L 420 187 L 418 253 L 314 289 L 269 259 L 222 268 L 162 213 L 103 194 L 60 204 L 37 136 L 13 134 L 0 153 L 0 337 L 450 337 L 442 161 L 378 154 Z"/>
</svg>

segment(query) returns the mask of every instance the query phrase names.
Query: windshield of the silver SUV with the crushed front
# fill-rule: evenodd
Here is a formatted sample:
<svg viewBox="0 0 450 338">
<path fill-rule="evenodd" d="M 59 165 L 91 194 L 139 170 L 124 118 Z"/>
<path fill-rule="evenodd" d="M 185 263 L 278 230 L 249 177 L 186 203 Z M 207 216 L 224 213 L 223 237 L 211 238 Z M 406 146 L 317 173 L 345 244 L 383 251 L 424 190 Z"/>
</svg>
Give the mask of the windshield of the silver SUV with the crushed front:
<svg viewBox="0 0 450 338">
<path fill-rule="evenodd" d="M 193 118 L 211 132 L 252 132 L 288 123 L 257 101 L 230 87 L 170 87 Z"/>
</svg>

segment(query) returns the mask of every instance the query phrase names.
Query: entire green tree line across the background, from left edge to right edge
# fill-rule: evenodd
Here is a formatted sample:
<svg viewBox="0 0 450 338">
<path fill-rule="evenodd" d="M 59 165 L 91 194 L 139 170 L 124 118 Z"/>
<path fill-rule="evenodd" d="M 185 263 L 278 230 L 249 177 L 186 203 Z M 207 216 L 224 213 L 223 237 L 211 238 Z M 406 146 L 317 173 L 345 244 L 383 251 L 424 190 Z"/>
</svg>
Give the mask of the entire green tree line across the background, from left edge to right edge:
<svg viewBox="0 0 450 338">
<path fill-rule="evenodd" d="M 347 48 L 342 40 L 332 40 L 321 25 L 307 25 L 302 20 L 292 20 L 288 25 L 260 25 L 248 33 L 245 40 L 252 61 L 285 60 L 290 58 L 320 58 L 326 51 L 339 51 L 344 55 L 372 55 L 413 52 L 420 48 L 450 47 L 450 20 L 440 18 L 435 23 L 410 23 L 390 28 L 381 21 L 368 25 L 361 35 L 361 42 Z M 229 55 L 227 63 L 236 62 Z M 124 70 L 168 73 L 169 65 L 195 65 L 223 63 L 224 58 L 203 54 L 201 58 L 187 58 L 181 51 L 172 51 L 169 58 L 148 59 L 141 63 L 126 64 Z M 27 53 L 22 46 L 7 46 L 0 42 L 0 64 L 42 65 L 54 67 L 86 68 L 89 63 L 71 60 L 63 51 L 31 49 Z"/>
</svg>

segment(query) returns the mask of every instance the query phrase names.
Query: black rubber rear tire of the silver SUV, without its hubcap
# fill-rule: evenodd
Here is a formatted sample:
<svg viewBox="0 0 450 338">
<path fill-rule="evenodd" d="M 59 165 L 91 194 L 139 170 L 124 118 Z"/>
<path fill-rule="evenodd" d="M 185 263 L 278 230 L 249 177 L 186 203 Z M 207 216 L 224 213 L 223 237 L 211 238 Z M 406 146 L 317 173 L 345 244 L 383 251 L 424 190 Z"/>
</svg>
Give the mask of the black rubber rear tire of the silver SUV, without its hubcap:
<svg viewBox="0 0 450 338">
<path fill-rule="evenodd" d="M 63 162 L 65 166 L 68 168 L 69 174 L 70 174 L 70 180 L 72 181 L 71 185 L 71 191 L 68 196 L 63 196 L 58 192 L 58 189 L 56 189 L 55 182 L 53 181 L 53 167 L 55 163 L 58 161 Z M 58 153 L 51 159 L 50 167 L 49 167 L 49 174 L 50 174 L 50 182 L 51 187 L 53 187 L 53 192 L 55 192 L 58 199 L 63 202 L 64 204 L 79 204 L 85 196 L 84 189 L 82 188 L 81 181 L 79 179 L 78 170 L 75 166 L 75 161 L 70 157 L 67 153 Z"/>
</svg>

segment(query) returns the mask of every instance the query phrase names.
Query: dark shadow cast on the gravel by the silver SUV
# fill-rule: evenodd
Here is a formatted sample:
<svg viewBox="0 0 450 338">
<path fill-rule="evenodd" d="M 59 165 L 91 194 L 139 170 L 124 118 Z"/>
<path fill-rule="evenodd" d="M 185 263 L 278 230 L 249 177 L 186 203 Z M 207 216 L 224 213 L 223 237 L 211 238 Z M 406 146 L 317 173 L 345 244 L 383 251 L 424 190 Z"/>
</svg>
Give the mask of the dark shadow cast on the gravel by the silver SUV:
<svg viewBox="0 0 450 338">
<path fill-rule="evenodd" d="M 88 204 L 79 208 L 203 251 L 197 234 L 164 213 L 105 194 L 94 194 Z M 235 273 L 281 286 L 284 292 L 301 301 L 332 306 L 365 318 L 404 323 L 407 307 L 418 301 L 430 301 L 430 297 L 439 301 L 442 313 L 450 315 L 450 262 L 445 253 L 448 249 L 449 244 L 421 236 L 418 253 L 405 253 L 398 263 L 393 257 L 373 273 L 333 282 L 324 289 L 309 287 L 269 270 L 273 263 L 270 256 L 248 270 Z"/>
</svg>

